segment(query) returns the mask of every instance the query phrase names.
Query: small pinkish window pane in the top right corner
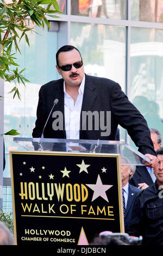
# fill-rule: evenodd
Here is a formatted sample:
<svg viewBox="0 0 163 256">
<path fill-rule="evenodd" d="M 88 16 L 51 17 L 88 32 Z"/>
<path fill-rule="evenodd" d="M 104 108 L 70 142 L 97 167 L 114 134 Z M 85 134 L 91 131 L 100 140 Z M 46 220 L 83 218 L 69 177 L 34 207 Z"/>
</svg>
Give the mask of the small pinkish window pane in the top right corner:
<svg viewBox="0 0 163 256">
<path fill-rule="evenodd" d="M 163 22 L 163 0 L 132 0 L 131 20 Z"/>
</svg>

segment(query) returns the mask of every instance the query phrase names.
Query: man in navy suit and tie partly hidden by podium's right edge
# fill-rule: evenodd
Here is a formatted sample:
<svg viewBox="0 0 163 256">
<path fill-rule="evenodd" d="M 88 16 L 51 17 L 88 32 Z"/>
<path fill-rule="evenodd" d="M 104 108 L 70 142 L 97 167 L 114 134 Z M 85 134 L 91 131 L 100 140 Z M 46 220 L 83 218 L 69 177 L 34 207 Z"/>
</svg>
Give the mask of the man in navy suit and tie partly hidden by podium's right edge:
<svg viewBox="0 0 163 256">
<path fill-rule="evenodd" d="M 135 172 L 135 166 L 129 165 L 129 160 L 126 157 L 121 158 L 121 176 L 122 176 L 122 192 L 123 192 L 123 213 L 124 213 L 124 231 L 128 232 L 128 227 L 131 219 L 131 211 L 137 195 L 141 192 L 137 188 L 129 184 L 129 179 Z M 125 202 L 124 202 L 125 201 Z"/>
</svg>

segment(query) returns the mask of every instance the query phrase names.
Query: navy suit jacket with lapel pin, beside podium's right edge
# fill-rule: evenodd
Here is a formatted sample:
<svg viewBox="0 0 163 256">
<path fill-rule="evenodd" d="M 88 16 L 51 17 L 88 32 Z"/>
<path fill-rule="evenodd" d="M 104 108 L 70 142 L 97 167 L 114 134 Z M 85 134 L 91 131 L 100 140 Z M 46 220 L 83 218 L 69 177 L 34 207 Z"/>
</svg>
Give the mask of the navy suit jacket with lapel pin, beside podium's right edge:
<svg viewBox="0 0 163 256">
<path fill-rule="evenodd" d="M 135 198 L 141 192 L 140 188 L 134 187 L 130 184 L 129 184 L 128 190 L 129 190 L 129 193 L 128 193 L 128 200 L 127 200 L 126 214 L 124 216 L 124 230 L 126 233 L 128 231 L 128 226 L 131 218 L 131 211 L 133 209 Z"/>
</svg>

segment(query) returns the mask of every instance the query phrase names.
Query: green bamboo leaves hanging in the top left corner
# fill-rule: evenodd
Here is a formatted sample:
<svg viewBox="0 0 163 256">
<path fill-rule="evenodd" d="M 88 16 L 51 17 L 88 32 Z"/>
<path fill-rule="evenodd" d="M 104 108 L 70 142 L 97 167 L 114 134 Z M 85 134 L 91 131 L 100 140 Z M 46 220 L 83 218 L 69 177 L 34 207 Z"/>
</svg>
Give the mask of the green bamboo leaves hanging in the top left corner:
<svg viewBox="0 0 163 256">
<path fill-rule="evenodd" d="M 47 7 L 45 7 L 47 5 Z M 53 7 L 54 10 L 51 9 Z M 61 13 L 56 0 L 12 0 L 11 3 L 6 3 L 4 0 L 0 3 L 0 77 L 5 81 L 15 82 L 15 87 L 10 93 L 14 93 L 15 97 L 20 99 L 20 93 L 17 89 L 17 83 L 26 85 L 29 82 L 22 75 L 21 70 L 13 69 L 13 66 L 18 66 L 13 51 L 21 53 L 19 42 L 22 38 L 25 39 L 28 46 L 29 31 L 34 31 L 35 26 L 44 28 L 45 25 L 49 28 L 47 15 L 58 17 L 56 13 Z M 28 19 L 32 20 L 32 25 L 29 26 Z M 22 33 L 21 33 L 22 32 Z"/>
</svg>

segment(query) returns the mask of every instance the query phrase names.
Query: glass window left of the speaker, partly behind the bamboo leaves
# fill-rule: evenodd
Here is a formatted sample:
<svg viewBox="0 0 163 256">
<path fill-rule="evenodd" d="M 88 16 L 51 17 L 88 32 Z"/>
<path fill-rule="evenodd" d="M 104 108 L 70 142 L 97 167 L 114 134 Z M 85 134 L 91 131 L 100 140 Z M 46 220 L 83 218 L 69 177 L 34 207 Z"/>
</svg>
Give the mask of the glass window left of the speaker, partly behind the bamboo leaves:
<svg viewBox="0 0 163 256">
<path fill-rule="evenodd" d="M 57 78 L 55 69 L 55 53 L 57 52 L 57 32 L 49 32 L 47 27 L 36 27 L 36 33 L 28 32 L 30 47 L 24 38 L 20 41 L 21 54 L 16 54 L 18 70 L 26 68 L 23 75 L 30 81 L 18 86 L 21 100 L 14 94 L 9 94 L 14 88 L 14 83 L 4 83 L 4 132 L 11 129 L 17 130 L 20 137 L 32 137 L 35 126 L 36 108 L 39 99 L 39 89 L 42 84 Z M 21 33 L 17 31 L 17 33 Z M 15 49 L 13 50 L 13 53 Z M 5 142 L 5 170 L 4 177 L 10 176 L 9 150 L 22 150 L 18 144 L 13 142 L 12 136 L 4 136 Z"/>
</svg>

